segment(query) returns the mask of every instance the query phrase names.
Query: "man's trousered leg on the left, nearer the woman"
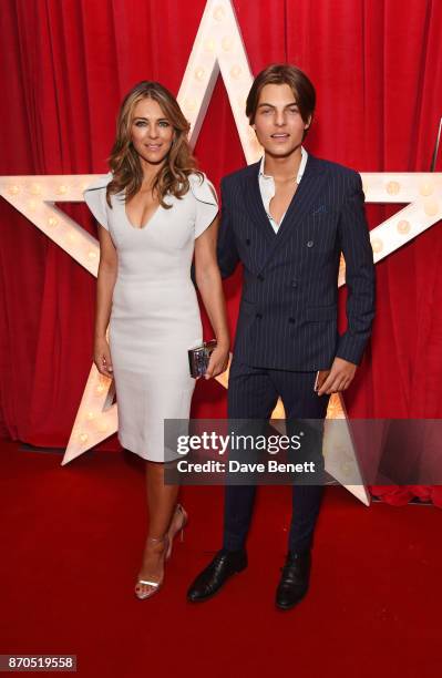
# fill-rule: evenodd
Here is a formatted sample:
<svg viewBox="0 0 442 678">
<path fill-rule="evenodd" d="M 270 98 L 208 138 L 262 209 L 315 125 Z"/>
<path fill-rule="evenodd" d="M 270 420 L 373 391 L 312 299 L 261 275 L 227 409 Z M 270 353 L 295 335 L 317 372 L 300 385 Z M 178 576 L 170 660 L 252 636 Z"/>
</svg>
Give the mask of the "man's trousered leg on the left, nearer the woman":
<svg viewBox="0 0 442 678">
<path fill-rule="evenodd" d="M 251 368 L 235 360 L 230 367 L 227 391 L 229 419 L 256 419 L 267 422 L 278 400 L 278 392 L 267 370 Z M 247 431 L 246 431 L 247 433 Z M 224 504 L 226 551 L 245 547 L 255 502 L 256 485 L 227 485 Z"/>
</svg>

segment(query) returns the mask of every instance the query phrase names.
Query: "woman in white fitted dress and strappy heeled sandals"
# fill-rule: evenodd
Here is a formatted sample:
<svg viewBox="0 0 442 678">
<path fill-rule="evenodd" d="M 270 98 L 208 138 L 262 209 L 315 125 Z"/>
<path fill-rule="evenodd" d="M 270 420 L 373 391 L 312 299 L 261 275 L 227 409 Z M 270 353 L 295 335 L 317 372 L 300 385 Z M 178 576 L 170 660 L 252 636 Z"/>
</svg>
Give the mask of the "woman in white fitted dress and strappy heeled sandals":
<svg viewBox="0 0 442 678">
<path fill-rule="evenodd" d="M 146 460 L 148 532 L 135 594 L 160 589 L 187 515 L 164 484 L 164 419 L 187 419 L 195 380 L 187 350 L 202 343 L 195 277 L 217 339 L 206 378 L 227 367 L 229 338 L 216 263 L 216 194 L 196 171 L 176 100 L 144 81 L 125 96 L 111 173 L 84 192 L 100 223 L 94 362 L 115 378 L 119 439 Z M 110 342 L 106 328 L 110 321 Z"/>
</svg>

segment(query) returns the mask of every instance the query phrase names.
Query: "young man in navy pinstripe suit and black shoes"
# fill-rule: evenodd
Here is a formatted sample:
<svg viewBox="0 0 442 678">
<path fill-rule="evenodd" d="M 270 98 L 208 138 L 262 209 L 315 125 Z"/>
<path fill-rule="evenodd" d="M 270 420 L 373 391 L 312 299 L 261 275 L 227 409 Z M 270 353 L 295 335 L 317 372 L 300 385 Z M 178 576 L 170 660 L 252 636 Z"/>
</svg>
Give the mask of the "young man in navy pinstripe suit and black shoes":
<svg viewBox="0 0 442 678">
<path fill-rule="evenodd" d="M 256 78 L 246 113 L 264 157 L 222 182 L 218 260 L 223 277 L 244 265 L 228 417 L 269 419 L 280 396 L 287 420 L 323 423 L 331 393 L 351 383 L 374 316 L 374 267 L 359 174 L 308 154 L 315 89 L 299 69 L 276 64 Z M 346 259 L 343 335 L 337 331 L 338 270 Z M 318 373 L 319 372 L 319 373 Z M 318 376 L 317 390 L 315 383 Z M 295 485 L 288 554 L 276 605 L 307 593 L 322 485 Z M 213 596 L 247 566 L 256 487 L 228 485 L 224 544 L 187 597 Z"/>
</svg>

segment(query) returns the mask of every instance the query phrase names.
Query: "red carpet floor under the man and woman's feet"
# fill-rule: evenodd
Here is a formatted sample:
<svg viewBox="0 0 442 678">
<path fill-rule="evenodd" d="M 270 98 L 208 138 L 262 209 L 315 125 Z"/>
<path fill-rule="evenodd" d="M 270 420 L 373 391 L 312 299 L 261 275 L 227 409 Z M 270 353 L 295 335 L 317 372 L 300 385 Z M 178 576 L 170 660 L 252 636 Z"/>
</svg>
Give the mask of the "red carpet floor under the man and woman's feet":
<svg viewBox="0 0 442 678">
<path fill-rule="evenodd" d="M 274 608 L 286 549 L 288 487 L 261 487 L 249 567 L 192 606 L 187 586 L 220 542 L 222 489 L 187 487 L 191 522 L 165 587 L 132 588 L 144 541 L 142 462 L 2 443 L 0 654 L 76 654 L 78 675 L 432 677 L 441 650 L 441 512 L 363 506 L 326 491 L 311 589 Z"/>
</svg>

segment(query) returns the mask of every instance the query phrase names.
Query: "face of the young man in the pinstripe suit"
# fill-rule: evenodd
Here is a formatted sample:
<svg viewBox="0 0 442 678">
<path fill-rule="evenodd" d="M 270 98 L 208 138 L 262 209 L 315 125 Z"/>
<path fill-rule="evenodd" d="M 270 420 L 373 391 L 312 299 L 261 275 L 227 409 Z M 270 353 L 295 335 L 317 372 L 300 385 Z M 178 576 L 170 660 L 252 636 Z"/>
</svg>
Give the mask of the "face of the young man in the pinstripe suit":
<svg viewBox="0 0 442 678">
<path fill-rule="evenodd" d="M 304 122 L 290 85 L 267 84 L 260 91 L 251 126 L 266 153 L 285 157 L 301 145 L 310 121 Z"/>
</svg>

